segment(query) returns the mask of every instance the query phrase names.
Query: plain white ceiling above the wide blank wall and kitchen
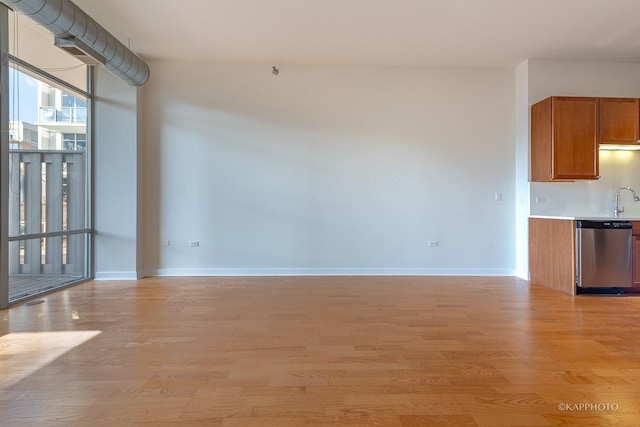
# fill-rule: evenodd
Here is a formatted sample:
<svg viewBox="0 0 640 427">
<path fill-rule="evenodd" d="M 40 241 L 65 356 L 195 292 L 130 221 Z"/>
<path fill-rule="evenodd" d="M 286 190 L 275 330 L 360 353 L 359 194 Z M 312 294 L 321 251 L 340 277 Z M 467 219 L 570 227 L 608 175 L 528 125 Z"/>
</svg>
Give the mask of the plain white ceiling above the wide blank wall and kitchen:
<svg viewBox="0 0 640 427">
<path fill-rule="evenodd" d="M 73 0 L 148 59 L 640 62 L 640 0 Z"/>
</svg>

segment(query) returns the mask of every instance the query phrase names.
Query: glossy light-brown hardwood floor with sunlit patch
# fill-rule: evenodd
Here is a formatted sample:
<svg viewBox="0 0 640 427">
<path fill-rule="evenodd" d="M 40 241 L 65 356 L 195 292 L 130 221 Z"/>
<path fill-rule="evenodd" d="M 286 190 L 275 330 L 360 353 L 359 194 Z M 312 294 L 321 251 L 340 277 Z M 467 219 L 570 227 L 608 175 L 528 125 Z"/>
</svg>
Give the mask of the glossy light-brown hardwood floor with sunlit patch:
<svg viewBox="0 0 640 427">
<path fill-rule="evenodd" d="M 6 426 L 640 425 L 640 298 L 148 278 L 0 311 Z"/>
</svg>

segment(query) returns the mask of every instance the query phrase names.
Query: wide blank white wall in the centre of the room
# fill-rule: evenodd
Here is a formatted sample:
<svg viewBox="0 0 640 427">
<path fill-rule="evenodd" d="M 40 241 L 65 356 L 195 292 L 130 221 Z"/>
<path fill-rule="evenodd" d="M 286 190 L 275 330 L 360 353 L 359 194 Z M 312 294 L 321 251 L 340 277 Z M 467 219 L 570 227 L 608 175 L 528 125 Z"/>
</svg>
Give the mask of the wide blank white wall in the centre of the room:
<svg viewBox="0 0 640 427">
<path fill-rule="evenodd" d="M 150 65 L 146 274 L 514 273 L 513 70 Z"/>
</svg>

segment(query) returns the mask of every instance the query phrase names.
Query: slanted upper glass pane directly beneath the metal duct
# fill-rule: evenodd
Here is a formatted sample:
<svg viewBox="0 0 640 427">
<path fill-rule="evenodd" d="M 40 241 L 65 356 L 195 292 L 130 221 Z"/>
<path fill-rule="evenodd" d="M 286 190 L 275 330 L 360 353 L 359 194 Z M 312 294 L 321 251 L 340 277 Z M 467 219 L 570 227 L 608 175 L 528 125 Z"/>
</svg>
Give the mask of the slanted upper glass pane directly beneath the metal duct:
<svg viewBox="0 0 640 427">
<path fill-rule="evenodd" d="M 9 11 L 9 53 L 86 91 L 87 65 L 54 46 L 53 39 L 29 17 Z"/>
</svg>

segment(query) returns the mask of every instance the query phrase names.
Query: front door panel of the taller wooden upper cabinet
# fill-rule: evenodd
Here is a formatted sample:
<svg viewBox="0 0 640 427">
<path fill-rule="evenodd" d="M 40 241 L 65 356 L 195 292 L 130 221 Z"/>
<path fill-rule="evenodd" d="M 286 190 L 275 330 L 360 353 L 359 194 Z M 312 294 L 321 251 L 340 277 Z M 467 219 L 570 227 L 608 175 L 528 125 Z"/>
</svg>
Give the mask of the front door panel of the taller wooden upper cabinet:
<svg viewBox="0 0 640 427">
<path fill-rule="evenodd" d="M 554 97 L 553 179 L 598 179 L 598 99 Z"/>
</svg>

